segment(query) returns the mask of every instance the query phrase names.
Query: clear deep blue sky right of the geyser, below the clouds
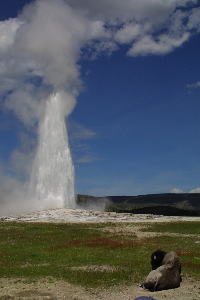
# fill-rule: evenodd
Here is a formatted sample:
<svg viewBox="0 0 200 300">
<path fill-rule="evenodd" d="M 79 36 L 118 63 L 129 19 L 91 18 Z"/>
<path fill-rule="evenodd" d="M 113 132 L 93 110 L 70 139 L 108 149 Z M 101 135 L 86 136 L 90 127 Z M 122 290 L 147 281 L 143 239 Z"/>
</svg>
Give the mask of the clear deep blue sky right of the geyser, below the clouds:
<svg viewBox="0 0 200 300">
<path fill-rule="evenodd" d="M 71 115 L 96 134 L 87 140 L 91 162 L 76 165 L 83 189 L 137 195 L 199 186 L 200 88 L 187 88 L 199 79 L 199 48 L 196 36 L 165 56 L 130 58 L 122 49 L 84 64 L 86 90 Z"/>
</svg>

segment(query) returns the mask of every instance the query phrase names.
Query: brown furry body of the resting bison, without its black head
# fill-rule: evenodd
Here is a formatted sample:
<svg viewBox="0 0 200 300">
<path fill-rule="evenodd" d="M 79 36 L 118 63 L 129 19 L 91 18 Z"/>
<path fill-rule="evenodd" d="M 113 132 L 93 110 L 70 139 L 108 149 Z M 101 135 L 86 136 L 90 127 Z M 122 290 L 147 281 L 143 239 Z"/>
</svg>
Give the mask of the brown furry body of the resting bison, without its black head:
<svg viewBox="0 0 200 300">
<path fill-rule="evenodd" d="M 152 291 L 173 289 L 180 286 L 180 260 L 174 251 L 167 252 L 162 260 L 162 265 L 151 271 L 143 287 Z"/>
</svg>

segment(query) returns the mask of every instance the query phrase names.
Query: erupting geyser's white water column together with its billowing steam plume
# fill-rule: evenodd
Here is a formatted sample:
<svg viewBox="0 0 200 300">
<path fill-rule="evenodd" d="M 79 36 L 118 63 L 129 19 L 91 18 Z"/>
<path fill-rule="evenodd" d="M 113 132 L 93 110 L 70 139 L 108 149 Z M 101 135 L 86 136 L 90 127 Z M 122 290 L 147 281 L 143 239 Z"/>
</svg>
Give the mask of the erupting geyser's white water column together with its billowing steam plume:
<svg viewBox="0 0 200 300">
<path fill-rule="evenodd" d="M 75 205 L 65 117 L 81 87 L 77 61 L 87 24 L 63 0 L 35 1 L 17 19 L 1 23 L 7 36 L 0 50 L 4 107 L 30 133 L 39 124 L 38 150 L 35 158 L 31 155 L 27 181 L 12 179 L 8 189 L 11 178 L 4 176 L 1 214 Z"/>
</svg>

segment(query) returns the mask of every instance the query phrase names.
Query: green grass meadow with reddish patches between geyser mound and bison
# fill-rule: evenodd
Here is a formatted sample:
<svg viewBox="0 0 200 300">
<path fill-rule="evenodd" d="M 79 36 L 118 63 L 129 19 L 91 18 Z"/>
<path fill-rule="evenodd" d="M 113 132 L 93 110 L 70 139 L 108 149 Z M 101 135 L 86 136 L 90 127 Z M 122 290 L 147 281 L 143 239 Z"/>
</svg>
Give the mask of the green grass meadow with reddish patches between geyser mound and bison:
<svg viewBox="0 0 200 300">
<path fill-rule="evenodd" d="M 199 222 L 143 224 L 163 233 L 145 239 L 106 230 L 135 225 L 0 223 L 0 277 L 48 276 L 90 287 L 139 283 L 151 269 L 151 253 L 163 249 L 176 251 L 183 273 L 200 279 Z"/>
</svg>

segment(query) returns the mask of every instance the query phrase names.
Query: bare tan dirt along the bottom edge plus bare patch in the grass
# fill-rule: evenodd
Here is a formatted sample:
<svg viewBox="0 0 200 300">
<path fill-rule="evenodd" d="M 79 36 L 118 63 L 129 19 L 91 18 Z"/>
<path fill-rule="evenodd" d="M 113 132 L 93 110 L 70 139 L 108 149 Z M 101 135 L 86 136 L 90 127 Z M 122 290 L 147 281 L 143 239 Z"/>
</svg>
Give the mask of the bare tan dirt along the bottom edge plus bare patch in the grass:
<svg viewBox="0 0 200 300">
<path fill-rule="evenodd" d="M 115 232 L 123 232 L 123 234 L 134 232 L 140 238 L 158 234 L 142 232 L 141 228 L 144 226 L 148 226 L 148 222 L 134 227 L 121 223 L 115 227 Z M 112 232 L 113 228 L 107 227 L 104 230 Z M 196 235 L 196 238 L 197 243 L 200 243 L 200 235 Z M 134 300 L 140 296 L 149 296 L 156 300 L 200 300 L 200 281 L 196 281 L 183 272 L 179 288 L 149 292 L 137 284 L 85 289 L 52 278 L 41 278 L 31 283 L 28 283 L 25 278 L 0 279 L 0 300 Z"/>
</svg>

